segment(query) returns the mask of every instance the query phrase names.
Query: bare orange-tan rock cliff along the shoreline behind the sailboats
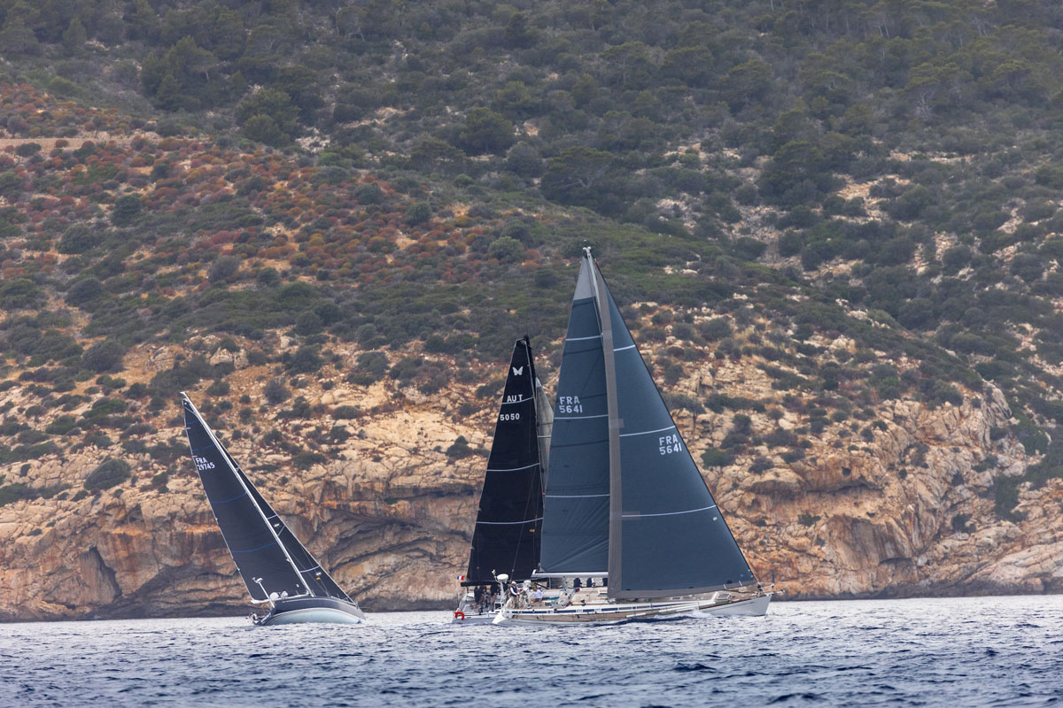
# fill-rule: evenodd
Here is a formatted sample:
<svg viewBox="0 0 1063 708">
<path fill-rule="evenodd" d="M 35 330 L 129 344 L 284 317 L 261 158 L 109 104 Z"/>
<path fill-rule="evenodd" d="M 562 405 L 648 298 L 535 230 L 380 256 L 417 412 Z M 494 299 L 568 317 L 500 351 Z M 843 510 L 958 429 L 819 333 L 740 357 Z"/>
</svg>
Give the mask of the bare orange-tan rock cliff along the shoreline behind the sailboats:
<svg viewBox="0 0 1063 708">
<path fill-rule="evenodd" d="M 172 347 L 134 350 L 123 376 L 129 383 L 147 381 L 170 367 L 176 353 Z M 265 408 L 243 422 L 236 422 L 233 411 L 206 417 L 296 534 L 366 607 L 449 607 L 458 590 L 455 575 L 465 568 L 486 462 L 476 450 L 490 443 L 494 402 L 477 400 L 472 383 L 431 396 L 390 379 L 348 383 L 341 372 L 358 352 L 335 353 L 334 365 L 296 392 L 311 412 L 274 419 L 276 409 L 264 395 L 270 369 L 250 365 L 242 350 L 219 350 L 216 356 L 229 357 L 236 369 L 229 377 L 230 397 L 247 395 L 250 408 Z M 541 368 L 549 372 L 549 365 Z M 771 384 L 750 358 L 703 359 L 688 364 L 670 388 L 695 400 L 715 393 L 771 402 L 779 397 Z M 197 400 L 209 398 L 190 393 Z M 1033 460 L 1013 438 L 993 434 L 1011 415 L 998 391 L 988 386 L 963 398 L 960 405 L 935 409 L 881 401 L 873 426 L 832 419 L 805 438 L 796 460 L 783 459 L 792 445 L 761 442 L 726 466 L 706 468 L 760 577 L 789 598 L 1063 590 L 1063 483 L 1020 486 L 1016 511 L 1023 520 L 998 518 L 986 496 L 994 479 L 1022 474 Z M 17 385 L 0 394 L 0 403 L 9 401 L 19 412 L 31 399 Z M 475 410 L 457 415 L 462 403 L 475 403 Z M 351 413 L 355 407 L 360 414 Z M 675 415 L 695 459 L 720 446 L 739 422 L 760 441 L 773 432 L 776 442 L 795 439 L 790 431 L 807 433 L 790 408 L 758 408 L 745 421 L 730 409 L 696 415 L 677 409 Z M 87 410 L 84 403 L 73 413 Z M 178 410 L 174 402 L 153 417 L 134 403 L 132 414 L 154 428 L 141 442 L 181 443 L 181 424 L 171 418 Z M 44 428 L 55 417 L 45 413 L 32 422 Z M 336 426 L 350 436 L 323 437 Z M 270 442 L 268 428 L 276 431 L 274 442 L 280 436 L 309 446 L 326 462 L 297 469 L 291 451 Z M 459 436 L 471 453 L 448 454 Z M 247 607 L 199 481 L 178 449 L 167 461 L 129 453 L 118 444 L 73 446 L 0 469 L 5 483 L 24 483 L 47 497 L 0 506 L 0 617 L 202 615 Z M 133 478 L 79 493 L 105 457 L 130 461 Z M 161 472 L 169 479 L 161 482 Z"/>
</svg>

